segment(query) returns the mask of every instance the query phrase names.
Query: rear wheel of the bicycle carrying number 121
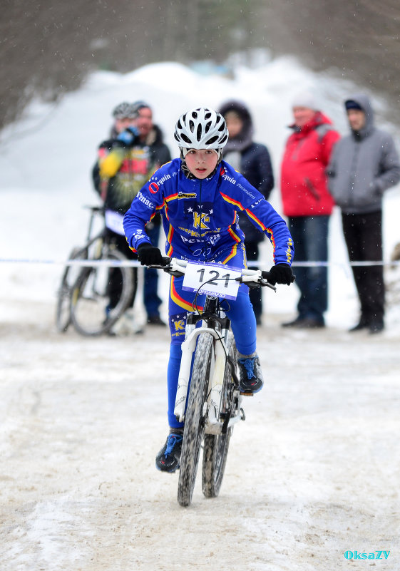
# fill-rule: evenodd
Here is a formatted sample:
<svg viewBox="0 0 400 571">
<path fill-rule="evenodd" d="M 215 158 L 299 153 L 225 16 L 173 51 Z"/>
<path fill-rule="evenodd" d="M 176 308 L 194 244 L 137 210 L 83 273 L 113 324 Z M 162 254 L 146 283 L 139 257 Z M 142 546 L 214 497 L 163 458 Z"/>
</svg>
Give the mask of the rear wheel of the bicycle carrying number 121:
<svg viewBox="0 0 400 571">
<path fill-rule="evenodd" d="M 227 350 L 231 362 L 235 363 L 236 349 L 232 336 L 228 341 Z M 235 381 L 232 379 L 232 369 L 227 361 L 220 410 L 220 417 L 224 419 L 230 418 L 232 414 L 234 390 Z M 205 434 L 202 451 L 202 493 L 206 498 L 216 498 L 220 493 L 232 431 L 233 428 L 231 427 L 227 429 L 225 434 Z"/>
</svg>

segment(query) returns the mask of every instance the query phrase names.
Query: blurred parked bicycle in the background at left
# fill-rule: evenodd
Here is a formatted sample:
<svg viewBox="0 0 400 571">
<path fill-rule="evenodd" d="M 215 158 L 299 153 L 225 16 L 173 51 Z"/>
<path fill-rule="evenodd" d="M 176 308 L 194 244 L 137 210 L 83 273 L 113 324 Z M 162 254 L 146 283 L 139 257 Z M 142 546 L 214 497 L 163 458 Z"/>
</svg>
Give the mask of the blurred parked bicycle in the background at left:
<svg viewBox="0 0 400 571">
<path fill-rule="evenodd" d="M 98 336 L 110 331 L 116 321 L 133 304 L 137 289 L 137 269 L 123 266 L 128 260 L 113 240 L 106 225 L 92 237 L 96 216 L 105 215 L 103 207 L 91 206 L 86 244 L 73 248 L 70 260 L 87 260 L 86 264 L 67 264 L 58 289 L 56 326 L 65 332 L 72 323 L 78 333 Z M 133 271 L 132 271 L 133 270 Z M 120 295 L 109 309 L 110 282 L 119 279 Z"/>
</svg>

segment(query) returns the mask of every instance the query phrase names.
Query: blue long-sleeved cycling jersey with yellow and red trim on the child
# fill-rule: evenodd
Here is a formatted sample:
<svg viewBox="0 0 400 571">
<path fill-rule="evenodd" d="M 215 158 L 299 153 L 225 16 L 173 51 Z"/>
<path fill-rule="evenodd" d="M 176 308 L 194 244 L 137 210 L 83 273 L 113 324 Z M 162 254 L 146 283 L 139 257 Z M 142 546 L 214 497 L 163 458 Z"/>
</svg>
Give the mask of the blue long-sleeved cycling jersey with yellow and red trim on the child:
<svg viewBox="0 0 400 571">
<path fill-rule="evenodd" d="M 293 241 L 286 222 L 240 173 L 222 161 L 210 178 L 187 178 L 179 158 L 163 165 L 142 187 L 126 212 L 123 226 L 135 251 L 149 242 L 145 225 L 160 212 L 166 236 L 165 253 L 181 259 L 229 263 L 245 235 L 237 212 L 245 212 L 273 247 L 275 264 L 292 264 Z"/>
</svg>

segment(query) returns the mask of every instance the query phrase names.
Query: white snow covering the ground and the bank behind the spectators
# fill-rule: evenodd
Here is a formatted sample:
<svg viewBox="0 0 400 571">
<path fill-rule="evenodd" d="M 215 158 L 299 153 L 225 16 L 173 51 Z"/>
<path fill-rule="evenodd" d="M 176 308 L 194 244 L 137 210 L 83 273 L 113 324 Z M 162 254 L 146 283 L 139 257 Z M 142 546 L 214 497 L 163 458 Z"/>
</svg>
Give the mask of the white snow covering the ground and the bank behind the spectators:
<svg viewBox="0 0 400 571">
<path fill-rule="evenodd" d="M 344 133 L 341 102 L 353 88 L 286 58 L 238 69 L 234 80 L 175 63 L 96 73 L 59 106 L 36 103 L 1 133 L 1 569 L 399 569 L 400 312 L 389 307 L 379 336 L 347 333 L 358 306 L 338 212 L 329 327 L 282 330 L 296 288 L 264 292 L 267 382 L 245 402 L 215 500 L 197 485 L 193 505 L 180 508 L 177 475 L 154 468 L 166 436 L 167 332 L 86 339 L 54 325 L 61 262 L 85 236 L 82 206 L 96 202 L 89 173 L 116 103 L 148 101 L 175 153 L 180 113 L 241 98 L 278 174 L 289 104 L 303 86 Z M 385 259 L 400 241 L 399 202 L 399 188 L 387 193 Z M 280 210 L 277 190 L 272 203 Z M 140 322 L 140 299 L 137 312 Z M 383 550 L 379 561 L 344 557 Z"/>
</svg>

